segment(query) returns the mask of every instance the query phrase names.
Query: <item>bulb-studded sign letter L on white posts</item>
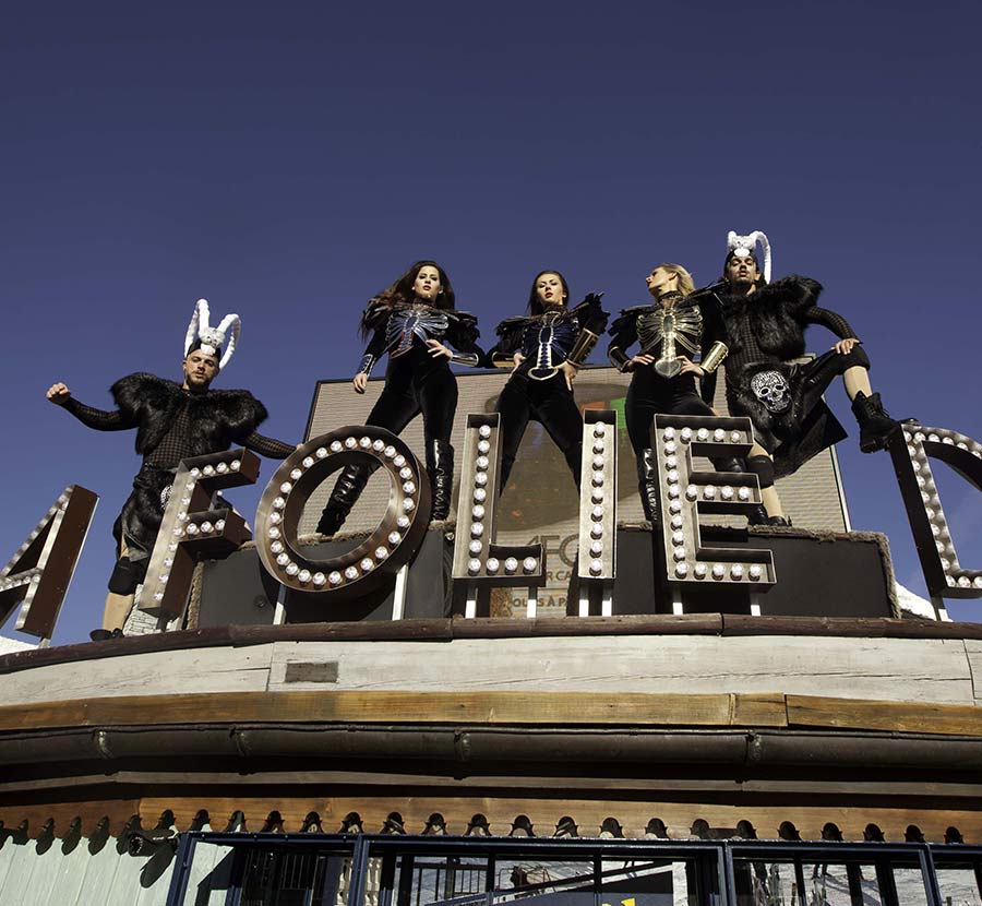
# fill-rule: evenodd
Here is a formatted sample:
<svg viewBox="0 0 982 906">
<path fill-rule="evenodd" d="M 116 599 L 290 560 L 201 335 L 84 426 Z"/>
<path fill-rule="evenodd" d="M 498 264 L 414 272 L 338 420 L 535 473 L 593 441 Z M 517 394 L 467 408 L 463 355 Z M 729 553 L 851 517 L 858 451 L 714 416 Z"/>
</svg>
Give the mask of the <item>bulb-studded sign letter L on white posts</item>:
<svg viewBox="0 0 982 906">
<path fill-rule="evenodd" d="M 466 617 L 477 616 L 480 586 L 506 585 L 530 589 L 528 616 L 535 617 L 536 597 L 531 591 L 544 582 L 542 545 L 505 546 L 494 541 L 501 473 L 499 422 L 498 413 L 467 416 L 453 577 L 467 587 Z"/>
</svg>

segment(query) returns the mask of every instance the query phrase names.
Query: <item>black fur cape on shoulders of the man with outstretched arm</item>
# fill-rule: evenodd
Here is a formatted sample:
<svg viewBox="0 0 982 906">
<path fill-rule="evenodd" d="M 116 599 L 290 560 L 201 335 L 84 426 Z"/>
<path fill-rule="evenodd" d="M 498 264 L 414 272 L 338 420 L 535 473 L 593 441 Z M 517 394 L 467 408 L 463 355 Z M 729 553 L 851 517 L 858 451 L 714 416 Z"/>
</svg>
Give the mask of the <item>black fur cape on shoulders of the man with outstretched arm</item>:
<svg viewBox="0 0 982 906">
<path fill-rule="evenodd" d="M 191 421 L 191 455 L 228 450 L 251 434 L 268 413 L 248 390 L 209 390 L 188 394 L 173 381 L 139 372 L 110 388 L 123 417 L 136 426 L 136 452 L 154 450 L 167 433 L 181 406 Z"/>
</svg>

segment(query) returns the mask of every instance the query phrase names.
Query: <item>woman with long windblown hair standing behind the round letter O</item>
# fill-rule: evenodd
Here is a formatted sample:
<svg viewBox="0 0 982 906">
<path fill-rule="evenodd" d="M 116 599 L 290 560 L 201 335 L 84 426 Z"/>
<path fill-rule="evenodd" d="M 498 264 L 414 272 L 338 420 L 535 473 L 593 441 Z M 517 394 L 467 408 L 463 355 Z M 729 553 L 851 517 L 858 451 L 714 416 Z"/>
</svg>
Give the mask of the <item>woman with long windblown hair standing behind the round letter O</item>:
<svg viewBox="0 0 982 906">
<path fill-rule="evenodd" d="M 434 261 L 417 261 L 388 289 L 373 298 L 361 317 L 362 336 L 372 335 L 358 373 L 356 393 L 364 393 L 375 362 L 388 353 L 385 388 L 366 425 L 402 430 L 423 417 L 427 473 L 432 485 L 431 521 L 445 520 L 454 482 L 451 430 L 457 409 L 456 365 L 480 365 L 477 319 L 454 309 L 454 289 Z M 458 351 L 448 349 L 443 341 Z M 344 525 L 369 476 L 370 465 L 349 465 L 340 474 L 321 514 L 318 532 L 334 535 Z"/>
</svg>

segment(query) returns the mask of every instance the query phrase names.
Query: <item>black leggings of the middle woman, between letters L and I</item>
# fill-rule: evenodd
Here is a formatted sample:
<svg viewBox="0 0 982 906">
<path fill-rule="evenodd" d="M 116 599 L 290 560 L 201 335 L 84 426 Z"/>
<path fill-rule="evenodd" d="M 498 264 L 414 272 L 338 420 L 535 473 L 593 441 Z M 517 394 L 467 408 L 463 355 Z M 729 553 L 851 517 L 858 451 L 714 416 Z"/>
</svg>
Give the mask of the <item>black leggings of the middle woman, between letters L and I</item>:
<svg viewBox="0 0 982 906">
<path fill-rule="evenodd" d="M 501 414 L 501 481 L 499 491 L 507 484 L 518 444 L 525 436 L 529 419 L 538 421 L 549 432 L 579 487 L 583 455 L 583 416 L 566 386 L 565 375 L 559 371 L 548 381 L 536 381 L 525 374 L 513 374 L 505 384 L 494 412 Z"/>
</svg>

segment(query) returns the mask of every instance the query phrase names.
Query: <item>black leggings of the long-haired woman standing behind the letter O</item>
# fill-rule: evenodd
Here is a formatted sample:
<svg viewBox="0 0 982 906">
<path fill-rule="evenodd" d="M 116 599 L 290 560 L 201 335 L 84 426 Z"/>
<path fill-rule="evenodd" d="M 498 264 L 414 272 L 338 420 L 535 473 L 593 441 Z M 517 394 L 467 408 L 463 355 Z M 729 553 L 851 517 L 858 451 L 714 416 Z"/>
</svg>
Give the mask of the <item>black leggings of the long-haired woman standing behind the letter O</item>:
<svg viewBox="0 0 982 906">
<path fill-rule="evenodd" d="M 372 406 L 366 425 L 394 434 L 422 413 L 423 437 L 450 443 L 457 410 L 457 379 L 446 359 L 433 359 L 422 347 L 390 359 L 385 388 Z"/>
</svg>

